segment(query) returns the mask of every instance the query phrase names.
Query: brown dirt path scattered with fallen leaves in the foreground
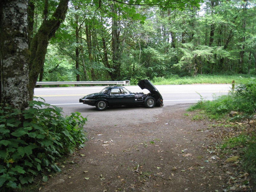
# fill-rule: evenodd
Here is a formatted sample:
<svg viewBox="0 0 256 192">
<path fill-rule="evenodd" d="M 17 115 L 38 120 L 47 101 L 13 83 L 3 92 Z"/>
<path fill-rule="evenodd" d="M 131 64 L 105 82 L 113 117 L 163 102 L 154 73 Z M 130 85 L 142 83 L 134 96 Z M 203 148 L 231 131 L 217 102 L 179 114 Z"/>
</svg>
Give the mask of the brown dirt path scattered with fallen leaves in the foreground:
<svg viewBox="0 0 256 192">
<path fill-rule="evenodd" d="M 188 107 L 164 106 L 149 123 L 134 124 L 127 117 L 122 124 L 92 128 L 88 119 L 86 146 L 36 191 L 253 191 L 246 183 L 248 174 L 238 169 L 236 150 L 232 156 L 237 158 L 225 162 L 231 156 L 216 148 L 225 135 L 235 134 L 232 128 L 192 121 L 196 112 L 186 111 Z"/>
</svg>

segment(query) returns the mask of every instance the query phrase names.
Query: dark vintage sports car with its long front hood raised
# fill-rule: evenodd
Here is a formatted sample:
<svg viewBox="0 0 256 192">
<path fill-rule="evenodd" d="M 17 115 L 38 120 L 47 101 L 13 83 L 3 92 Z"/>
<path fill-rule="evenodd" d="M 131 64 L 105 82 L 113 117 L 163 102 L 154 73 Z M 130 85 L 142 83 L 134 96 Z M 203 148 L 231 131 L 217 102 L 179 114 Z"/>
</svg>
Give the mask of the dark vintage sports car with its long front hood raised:
<svg viewBox="0 0 256 192">
<path fill-rule="evenodd" d="M 164 106 L 162 95 L 149 80 L 141 80 L 138 85 L 141 89 L 147 89 L 149 93 L 132 93 L 122 86 L 109 86 L 105 87 L 99 93 L 84 96 L 79 99 L 79 102 L 96 106 L 100 111 L 106 110 L 108 106 L 145 105 L 146 108 Z"/>
</svg>

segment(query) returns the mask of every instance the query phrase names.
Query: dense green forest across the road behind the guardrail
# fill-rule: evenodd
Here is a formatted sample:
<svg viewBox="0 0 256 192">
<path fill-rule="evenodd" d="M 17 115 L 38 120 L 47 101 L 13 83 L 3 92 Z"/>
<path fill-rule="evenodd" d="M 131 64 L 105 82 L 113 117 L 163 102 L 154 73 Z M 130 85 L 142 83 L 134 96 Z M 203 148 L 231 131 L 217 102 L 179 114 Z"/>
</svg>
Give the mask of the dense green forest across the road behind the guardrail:
<svg viewBox="0 0 256 192">
<path fill-rule="evenodd" d="M 47 53 L 59 61 L 48 59 L 47 68 L 59 68 L 67 81 L 255 75 L 255 1 L 207 0 L 200 8 L 70 1 Z M 62 61 L 71 66 L 70 76 L 56 67 Z M 49 81 L 48 73 L 45 68 L 43 81 Z"/>
</svg>

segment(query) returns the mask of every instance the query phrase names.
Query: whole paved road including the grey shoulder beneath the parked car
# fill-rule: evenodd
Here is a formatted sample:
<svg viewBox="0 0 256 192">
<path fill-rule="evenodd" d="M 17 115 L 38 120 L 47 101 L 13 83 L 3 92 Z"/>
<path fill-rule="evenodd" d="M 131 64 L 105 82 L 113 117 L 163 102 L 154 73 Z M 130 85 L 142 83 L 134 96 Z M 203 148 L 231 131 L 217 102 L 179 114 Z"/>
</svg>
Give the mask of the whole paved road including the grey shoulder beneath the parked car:
<svg viewBox="0 0 256 192">
<path fill-rule="evenodd" d="M 93 87 L 59 87 L 59 88 L 36 88 L 35 96 L 42 97 L 46 103 L 63 108 L 64 114 L 80 112 L 88 116 L 91 123 L 97 119 L 95 126 L 100 124 L 124 123 L 127 119 L 133 123 L 150 122 L 156 116 L 171 110 L 173 105 L 196 103 L 202 98 L 212 100 L 222 94 L 228 94 L 231 84 L 193 84 L 193 85 L 156 85 L 162 94 L 164 107 L 147 109 L 142 107 L 114 107 L 106 111 L 98 111 L 96 107 L 79 103 L 79 98 L 86 94 L 100 92 L 105 86 Z M 141 92 L 139 86 L 125 86 L 131 92 Z M 143 90 L 147 93 L 147 90 Z M 107 123 L 106 123 L 107 122 Z"/>
</svg>

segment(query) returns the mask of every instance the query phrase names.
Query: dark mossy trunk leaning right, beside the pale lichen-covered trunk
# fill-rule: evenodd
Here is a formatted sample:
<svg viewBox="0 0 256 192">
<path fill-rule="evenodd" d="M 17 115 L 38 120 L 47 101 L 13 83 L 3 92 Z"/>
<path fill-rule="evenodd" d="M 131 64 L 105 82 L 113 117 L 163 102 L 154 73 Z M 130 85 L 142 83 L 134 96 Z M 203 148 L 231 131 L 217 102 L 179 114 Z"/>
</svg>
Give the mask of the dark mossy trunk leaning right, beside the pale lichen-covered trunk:
<svg viewBox="0 0 256 192">
<path fill-rule="evenodd" d="M 68 10 L 68 2 L 69 0 L 60 0 L 58 7 L 52 15 L 52 18 L 55 19 L 44 20 L 38 29 L 38 32 L 31 41 L 28 83 L 30 100 L 33 99 L 36 81 L 40 70 L 44 65 L 48 42 L 55 35 L 57 29 L 60 27 L 60 23 L 65 20 L 65 16 Z"/>
</svg>

